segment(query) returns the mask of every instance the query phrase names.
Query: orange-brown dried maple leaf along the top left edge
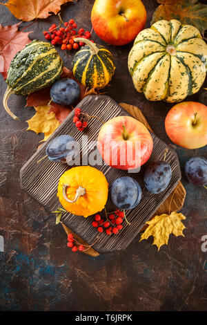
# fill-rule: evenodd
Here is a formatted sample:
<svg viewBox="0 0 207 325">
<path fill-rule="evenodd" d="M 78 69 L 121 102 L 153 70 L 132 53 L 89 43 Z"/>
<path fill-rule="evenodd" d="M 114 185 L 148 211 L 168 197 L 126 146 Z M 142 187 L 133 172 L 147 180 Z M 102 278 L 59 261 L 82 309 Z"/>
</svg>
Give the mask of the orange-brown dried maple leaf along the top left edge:
<svg viewBox="0 0 207 325">
<path fill-rule="evenodd" d="M 0 3 L 8 7 L 17 19 L 31 21 L 33 19 L 48 18 L 53 12 L 57 15 L 63 3 L 72 0 L 9 0 L 7 3 Z"/>
</svg>

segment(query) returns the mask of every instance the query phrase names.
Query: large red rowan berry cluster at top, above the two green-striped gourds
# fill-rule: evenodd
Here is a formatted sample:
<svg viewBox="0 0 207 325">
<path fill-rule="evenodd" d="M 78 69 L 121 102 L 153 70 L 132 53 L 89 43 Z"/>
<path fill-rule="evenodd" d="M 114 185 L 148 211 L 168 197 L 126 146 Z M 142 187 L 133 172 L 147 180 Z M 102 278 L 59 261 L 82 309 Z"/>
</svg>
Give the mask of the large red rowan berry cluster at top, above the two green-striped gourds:
<svg viewBox="0 0 207 325">
<path fill-rule="evenodd" d="M 43 35 L 48 40 L 51 41 L 52 45 L 61 45 L 61 50 L 78 50 L 81 46 L 84 46 L 83 41 L 78 43 L 74 41 L 76 37 L 82 37 L 90 39 L 91 33 L 84 28 L 79 28 L 77 30 L 77 24 L 74 19 L 63 22 L 60 18 L 60 25 L 52 24 L 49 30 L 44 30 Z M 61 23 L 63 26 L 61 26 Z M 90 40 L 92 41 L 92 40 Z"/>
</svg>

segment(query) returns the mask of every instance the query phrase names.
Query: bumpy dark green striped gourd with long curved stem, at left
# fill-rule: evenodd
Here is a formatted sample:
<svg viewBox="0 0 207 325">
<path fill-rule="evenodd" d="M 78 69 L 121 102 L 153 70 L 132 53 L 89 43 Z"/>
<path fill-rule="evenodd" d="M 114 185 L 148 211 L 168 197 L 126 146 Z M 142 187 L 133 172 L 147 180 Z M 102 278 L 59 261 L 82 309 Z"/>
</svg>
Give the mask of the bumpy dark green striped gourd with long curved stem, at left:
<svg viewBox="0 0 207 325">
<path fill-rule="evenodd" d="M 8 88 L 3 96 L 3 106 L 6 111 L 17 120 L 8 108 L 8 97 L 15 93 L 17 95 L 28 95 L 39 89 L 43 89 L 57 80 L 63 70 L 63 61 L 55 46 L 34 39 L 21 51 L 14 55 L 6 83 Z"/>
</svg>

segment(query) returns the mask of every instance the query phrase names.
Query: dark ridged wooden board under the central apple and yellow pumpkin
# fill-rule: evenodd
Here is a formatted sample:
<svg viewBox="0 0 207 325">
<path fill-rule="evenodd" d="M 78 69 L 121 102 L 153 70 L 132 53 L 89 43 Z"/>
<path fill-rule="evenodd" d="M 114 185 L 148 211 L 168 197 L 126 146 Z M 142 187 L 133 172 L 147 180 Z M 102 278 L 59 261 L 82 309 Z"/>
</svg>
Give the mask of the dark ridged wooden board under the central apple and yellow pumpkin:
<svg viewBox="0 0 207 325">
<path fill-rule="evenodd" d="M 125 111 L 116 102 L 111 100 L 110 97 L 104 95 L 87 96 L 79 103 L 78 106 L 83 111 L 86 111 L 89 115 L 99 116 L 99 118 L 101 118 L 101 120 L 104 122 L 117 115 L 130 115 L 131 113 L 131 115 L 133 115 L 138 120 L 140 120 L 141 116 L 141 122 L 144 122 L 144 124 L 147 123 L 144 119 L 144 116 L 142 114 L 140 115 L 140 111 L 138 109 L 130 106 L 130 113 L 128 113 L 128 111 Z M 74 137 L 77 142 L 81 144 L 81 136 L 83 133 L 79 132 L 75 127 L 75 124 L 72 122 L 73 117 L 74 112 L 68 115 L 68 118 L 66 118 L 66 120 L 55 131 L 55 133 L 52 134 L 48 141 L 41 146 L 37 153 L 35 153 L 30 158 L 30 160 L 28 160 L 26 165 L 24 165 L 21 169 L 20 176 L 22 189 L 24 189 L 28 194 L 30 194 L 30 196 L 41 203 L 41 205 L 43 205 L 50 213 L 54 210 L 57 210 L 57 208 L 61 206 L 57 198 L 57 185 L 61 174 L 63 174 L 63 172 L 70 167 L 68 167 L 66 164 L 52 163 L 48 159 L 42 160 L 39 164 L 37 164 L 37 161 L 45 156 L 45 149 L 48 145 L 48 142 L 52 140 L 52 138 L 55 138 L 61 134 L 70 134 L 70 136 Z M 149 127 L 148 124 L 146 124 L 146 126 Z M 101 123 L 97 119 L 90 120 L 90 126 L 86 131 L 89 144 L 90 141 L 97 139 L 100 127 Z M 130 221 L 131 225 L 124 223 L 124 227 L 120 230 L 119 234 L 115 236 L 101 234 L 99 236 L 99 241 L 97 241 L 97 243 L 95 243 L 93 246 L 98 253 L 115 252 L 117 250 L 126 248 L 132 239 L 137 236 L 139 231 L 144 228 L 146 221 L 155 215 L 155 212 L 160 209 L 161 205 L 166 201 L 168 196 L 174 192 L 177 185 L 179 185 L 178 192 L 181 192 L 181 196 L 184 197 L 184 189 L 179 183 L 179 180 L 181 179 L 181 172 L 179 169 L 177 154 L 163 141 L 157 138 L 154 133 L 151 132 L 151 136 L 154 142 L 154 148 L 152 155 L 148 160 L 148 163 L 150 163 L 152 160 L 161 160 L 164 157 L 166 148 L 168 148 L 166 161 L 170 163 L 172 169 L 172 179 L 170 180 L 168 188 L 164 192 L 157 195 L 150 194 L 144 187 L 143 175 L 144 169 L 148 163 L 141 167 L 141 171 L 139 171 L 137 174 L 128 174 L 127 171 L 114 169 L 104 164 L 101 166 L 94 166 L 97 169 L 103 171 L 103 174 L 105 174 L 109 183 L 109 190 L 116 178 L 125 175 L 135 178 L 141 185 L 142 189 L 142 198 L 139 205 L 135 207 L 135 209 L 126 211 L 126 217 L 128 221 Z M 181 206 L 176 204 L 175 192 L 173 195 L 174 198 L 172 199 L 171 209 L 178 210 Z M 182 199 L 179 199 L 179 202 L 183 202 Z M 116 207 L 112 204 L 109 195 L 106 210 L 110 212 L 114 211 L 115 208 Z M 92 227 L 92 220 L 93 216 L 89 216 L 87 219 L 85 219 L 82 216 L 74 216 L 69 212 L 64 214 L 61 218 L 62 223 L 66 227 L 70 228 L 72 232 L 75 232 L 75 234 L 77 234 L 81 240 L 85 241 L 89 245 L 92 244 L 97 238 L 97 229 Z"/>
</svg>

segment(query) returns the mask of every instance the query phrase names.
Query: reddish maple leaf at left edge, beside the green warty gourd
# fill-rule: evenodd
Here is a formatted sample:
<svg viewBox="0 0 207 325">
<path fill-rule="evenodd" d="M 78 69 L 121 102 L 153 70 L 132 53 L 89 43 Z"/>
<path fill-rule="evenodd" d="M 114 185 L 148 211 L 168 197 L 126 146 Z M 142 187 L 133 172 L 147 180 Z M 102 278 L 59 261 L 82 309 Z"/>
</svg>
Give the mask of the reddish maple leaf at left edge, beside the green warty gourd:
<svg viewBox="0 0 207 325">
<path fill-rule="evenodd" d="M 14 55 L 30 43 L 28 38 L 30 32 L 20 32 L 19 24 L 4 27 L 0 25 L 0 72 L 4 79 L 7 78 L 7 71 Z"/>
</svg>

